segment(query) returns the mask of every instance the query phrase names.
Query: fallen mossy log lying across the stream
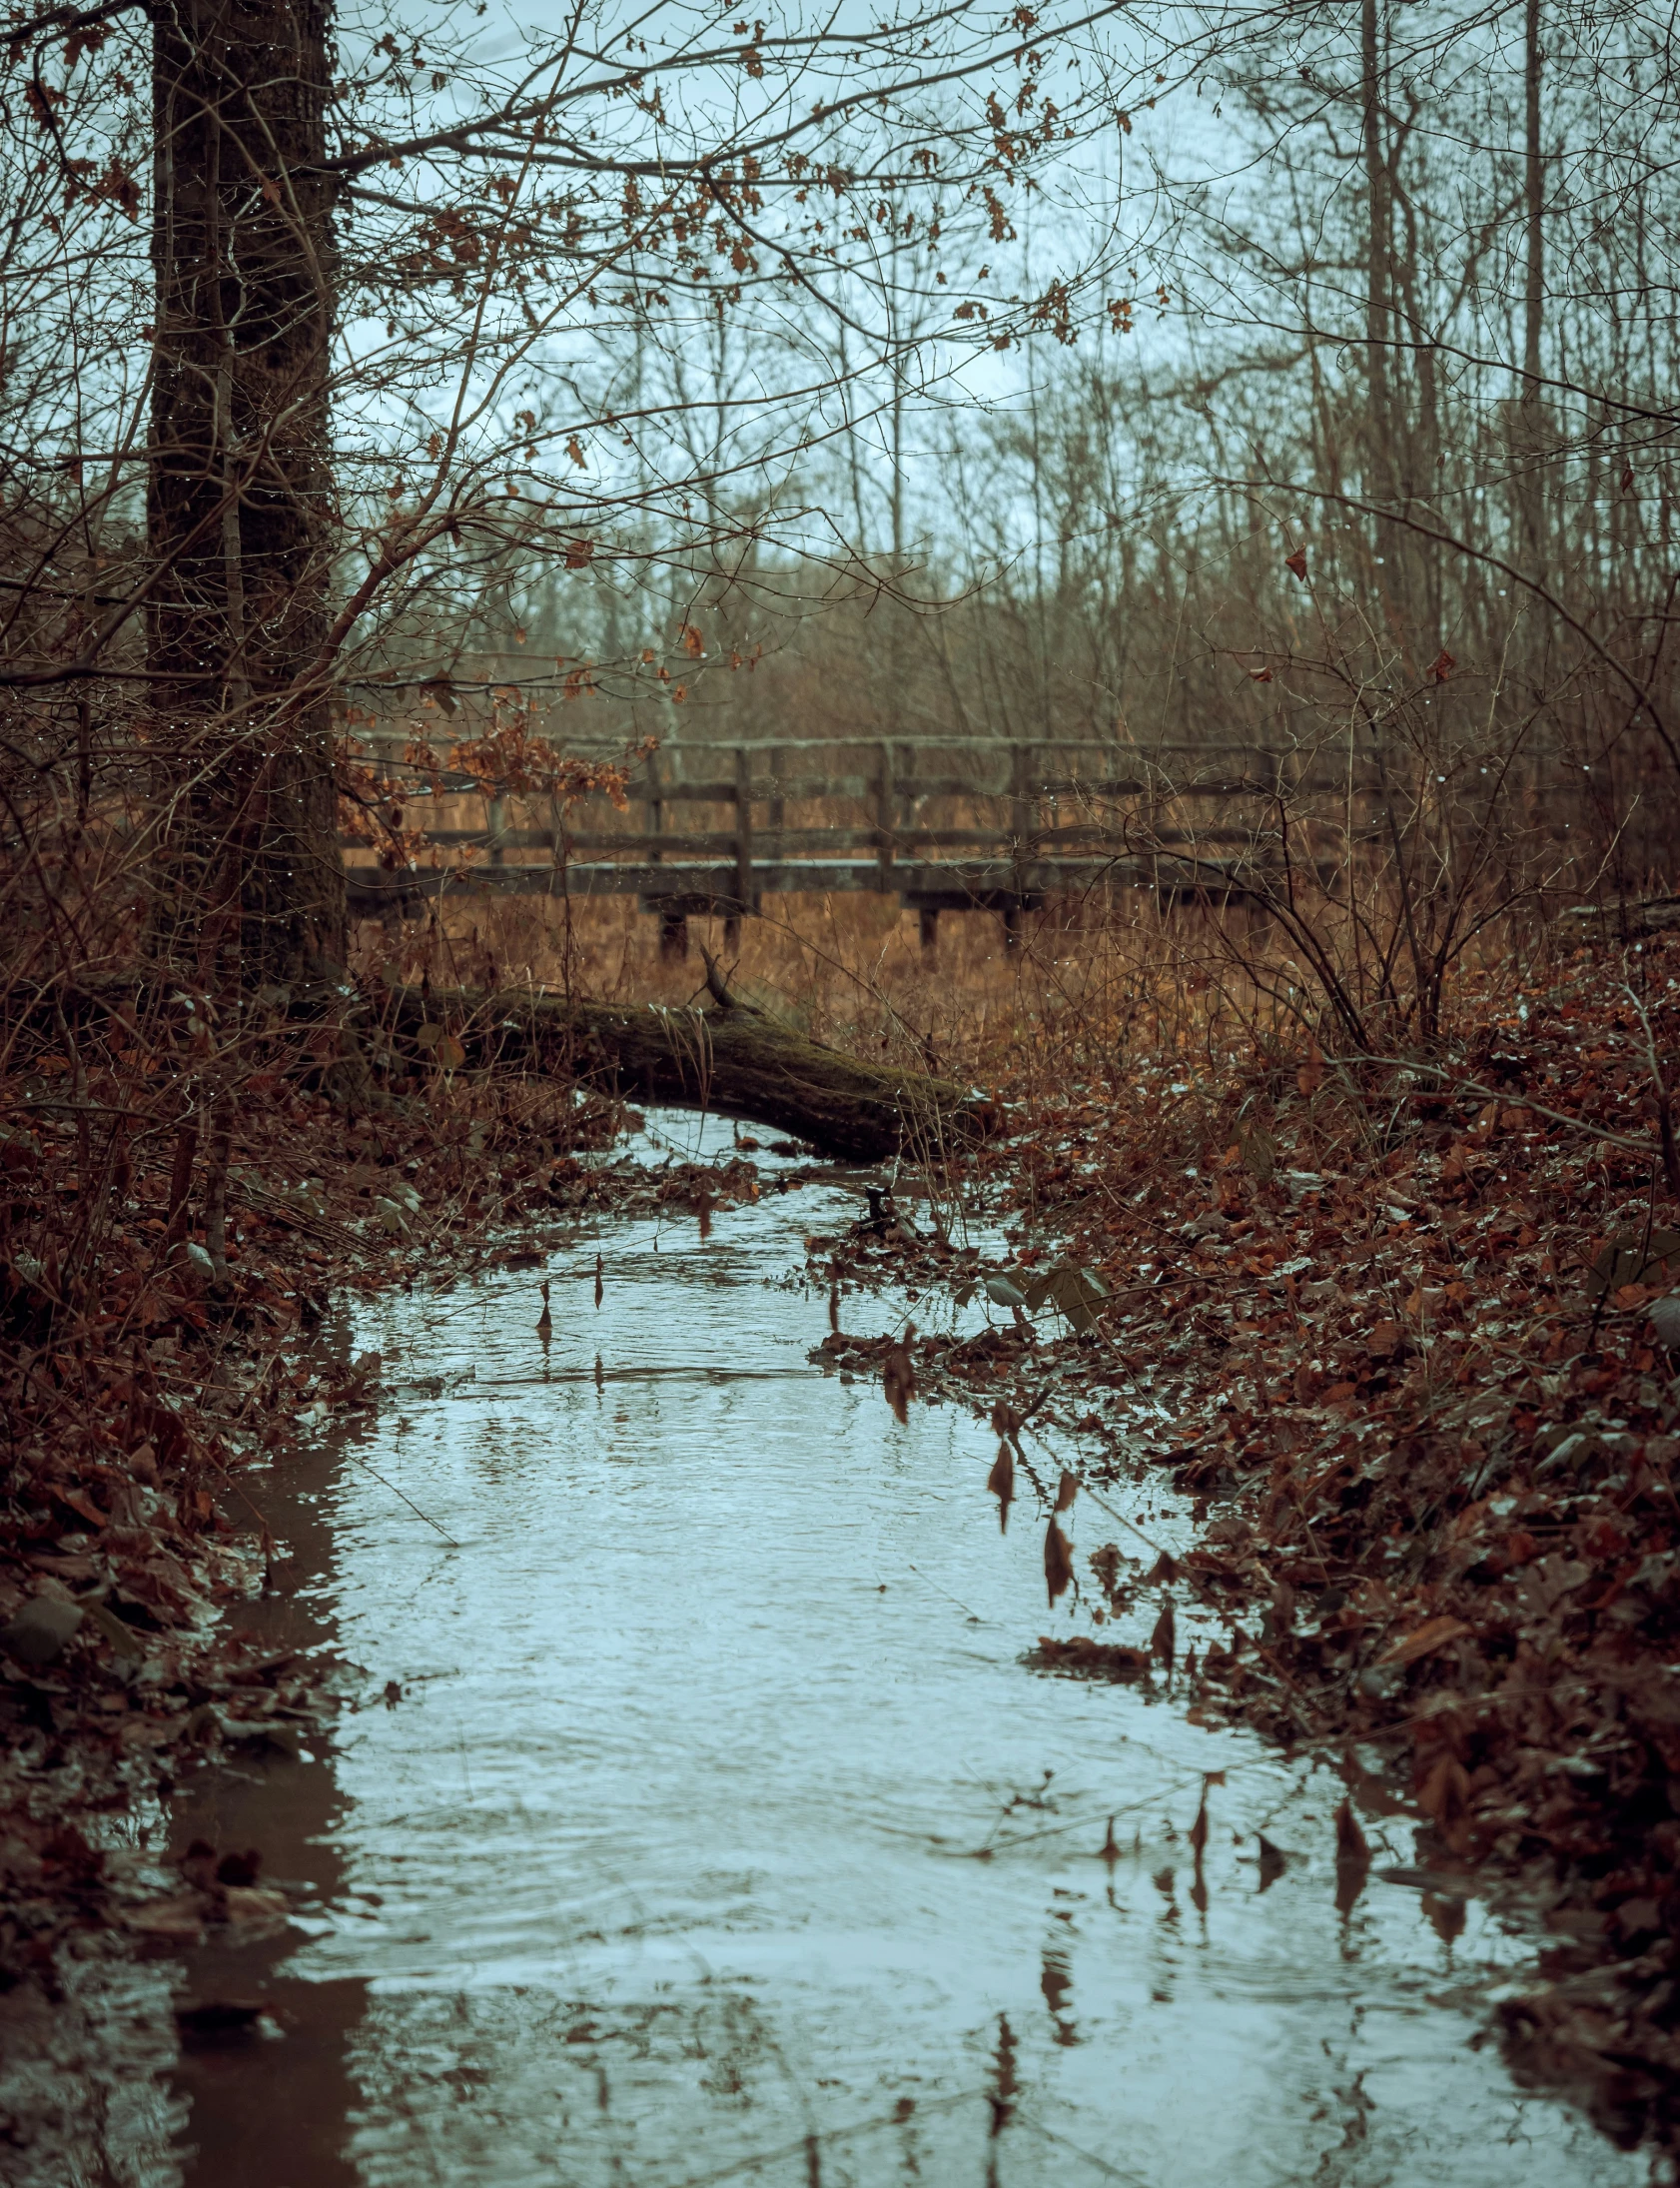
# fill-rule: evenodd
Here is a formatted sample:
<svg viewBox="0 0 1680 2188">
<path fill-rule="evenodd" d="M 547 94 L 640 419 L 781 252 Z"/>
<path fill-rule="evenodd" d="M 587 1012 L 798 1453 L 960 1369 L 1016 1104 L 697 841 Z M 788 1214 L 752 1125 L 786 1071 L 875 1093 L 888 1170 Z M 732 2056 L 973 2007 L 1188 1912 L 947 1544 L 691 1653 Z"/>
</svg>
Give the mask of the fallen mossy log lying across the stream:
<svg viewBox="0 0 1680 2188">
<path fill-rule="evenodd" d="M 860 1063 L 737 1002 L 722 980 L 711 1009 L 578 1002 L 527 989 L 398 989 L 396 1031 L 433 1024 L 468 1066 L 523 1063 L 610 1085 L 637 1101 L 715 1109 L 770 1125 L 825 1155 L 938 1160 L 995 1120 L 984 1096 L 949 1079 Z"/>
</svg>

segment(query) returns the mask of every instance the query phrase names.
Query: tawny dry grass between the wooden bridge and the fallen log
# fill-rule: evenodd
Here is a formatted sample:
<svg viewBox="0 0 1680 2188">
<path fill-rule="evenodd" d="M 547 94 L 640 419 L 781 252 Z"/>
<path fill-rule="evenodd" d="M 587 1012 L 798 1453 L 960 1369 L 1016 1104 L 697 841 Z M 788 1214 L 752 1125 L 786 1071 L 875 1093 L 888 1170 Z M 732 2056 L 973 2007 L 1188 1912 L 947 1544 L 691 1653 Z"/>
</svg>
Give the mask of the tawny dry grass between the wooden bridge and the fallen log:
<svg viewBox="0 0 1680 2188">
<path fill-rule="evenodd" d="M 941 912 L 932 952 L 917 915 L 890 897 L 766 897 L 735 936 L 722 919 L 691 919 L 682 961 L 661 956 L 658 921 L 628 897 L 457 897 L 438 921 L 363 923 L 354 969 L 680 1004 L 702 993 L 702 947 L 737 993 L 816 1039 L 969 1076 L 1028 1112 L 1070 1072 L 1120 1096 L 1144 1052 L 1218 1079 L 1232 1066 L 1343 1046 L 1275 928 L 1242 908 L 1164 910 L 1142 895 L 1107 906 L 1052 899 L 1024 917 L 1017 947 L 993 912 Z M 1522 985 L 1549 954 L 1544 928 L 1501 921 L 1466 954 L 1450 991 L 1483 1015 L 1490 987 Z M 1393 1026 L 1396 1050 L 1413 1041 Z"/>
</svg>

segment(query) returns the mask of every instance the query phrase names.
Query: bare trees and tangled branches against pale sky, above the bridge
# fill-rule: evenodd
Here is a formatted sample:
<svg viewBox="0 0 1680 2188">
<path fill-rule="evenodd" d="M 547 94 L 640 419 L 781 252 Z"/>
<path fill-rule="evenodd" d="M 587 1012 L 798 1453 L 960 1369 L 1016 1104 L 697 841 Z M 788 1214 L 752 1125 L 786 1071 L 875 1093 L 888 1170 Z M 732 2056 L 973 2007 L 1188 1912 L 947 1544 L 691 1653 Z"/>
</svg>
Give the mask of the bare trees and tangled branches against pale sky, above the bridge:
<svg viewBox="0 0 1680 2188">
<path fill-rule="evenodd" d="M 562 794 L 648 735 L 1358 770 L 1245 810 L 1260 893 L 1428 1024 L 1490 906 L 1667 853 L 1669 59 L 1540 0 L 15 11 L 13 982 L 337 967 L 346 735 L 514 709 Z"/>
</svg>

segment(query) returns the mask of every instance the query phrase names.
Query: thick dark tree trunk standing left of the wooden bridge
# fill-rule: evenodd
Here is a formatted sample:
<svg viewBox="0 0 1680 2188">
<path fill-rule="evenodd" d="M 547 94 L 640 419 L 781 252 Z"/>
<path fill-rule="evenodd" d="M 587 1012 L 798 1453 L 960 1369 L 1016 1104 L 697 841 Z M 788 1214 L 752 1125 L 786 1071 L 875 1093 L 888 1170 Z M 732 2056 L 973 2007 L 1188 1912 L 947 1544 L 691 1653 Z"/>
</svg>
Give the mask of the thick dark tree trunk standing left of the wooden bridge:
<svg viewBox="0 0 1680 2188">
<path fill-rule="evenodd" d="M 160 928 L 247 985 L 343 958 L 328 694 L 326 0 L 153 15 L 149 665 L 175 810 Z"/>
</svg>

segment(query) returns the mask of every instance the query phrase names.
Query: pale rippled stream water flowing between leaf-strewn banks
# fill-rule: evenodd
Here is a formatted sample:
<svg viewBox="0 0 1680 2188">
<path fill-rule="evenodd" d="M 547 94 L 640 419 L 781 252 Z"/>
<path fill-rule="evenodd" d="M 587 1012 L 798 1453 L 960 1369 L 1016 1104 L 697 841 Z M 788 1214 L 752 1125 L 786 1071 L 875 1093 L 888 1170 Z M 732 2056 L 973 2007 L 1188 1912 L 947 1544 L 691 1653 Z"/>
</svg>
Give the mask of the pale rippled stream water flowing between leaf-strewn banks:
<svg viewBox="0 0 1680 2188">
<path fill-rule="evenodd" d="M 1046 1615 L 1030 1501 L 1000 1534 L 993 1438 L 807 1361 L 801 1236 L 855 1210 L 580 1225 L 547 1346 L 529 1271 L 357 1308 L 398 1396 L 276 1499 L 282 1617 L 361 1707 L 171 1827 L 302 1886 L 287 1939 L 188 1967 L 287 2033 L 162 2059 L 147 2166 L 109 2177 L 1643 2179 L 1472 2044 L 1533 1936 L 1376 1871 L 1339 1910 L 1328 1768 L 1022 1665 L 1085 1615 Z M 1081 1569 L 1118 1536 L 1083 1497 L 1072 1532 Z M 1378 1869 L 1409 1860 L 1389 1827 Z"/>
</svg>

